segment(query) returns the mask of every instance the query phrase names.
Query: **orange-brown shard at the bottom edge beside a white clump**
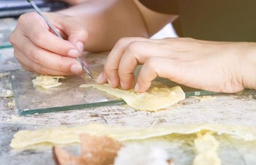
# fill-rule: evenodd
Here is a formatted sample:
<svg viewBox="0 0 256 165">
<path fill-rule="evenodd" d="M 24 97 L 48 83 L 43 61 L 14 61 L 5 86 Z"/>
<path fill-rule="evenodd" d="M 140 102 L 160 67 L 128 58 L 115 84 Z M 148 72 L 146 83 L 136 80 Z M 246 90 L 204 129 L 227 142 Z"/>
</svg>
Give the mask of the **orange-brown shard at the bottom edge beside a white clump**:
<svg viewBox="0 0 256 165">
<path fill-rule="evenodd" d="M 122 143 L 106 136 L 82 134 L 81 155 L 75 156 L 54 146 L 56 161 L 60 165 L 109 165 L 113 164 Z"/>
</svg>

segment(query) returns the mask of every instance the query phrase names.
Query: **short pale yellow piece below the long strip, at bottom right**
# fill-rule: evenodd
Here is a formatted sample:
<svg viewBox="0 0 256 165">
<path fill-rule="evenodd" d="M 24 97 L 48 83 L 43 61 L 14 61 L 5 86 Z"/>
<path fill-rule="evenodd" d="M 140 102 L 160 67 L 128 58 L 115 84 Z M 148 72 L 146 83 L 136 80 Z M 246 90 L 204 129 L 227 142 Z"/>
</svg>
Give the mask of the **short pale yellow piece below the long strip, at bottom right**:
<svg viewBox="0 0 256 165">
<path fill-rule="evenodd" d="M 211 132 L 202 135 L 200 132 L 194 140 L 196 157 L 193 165 L 221 165 L 221 159 L 218 156 L 217 149 L 220 143 L 212 136 Z"/>
</svg>

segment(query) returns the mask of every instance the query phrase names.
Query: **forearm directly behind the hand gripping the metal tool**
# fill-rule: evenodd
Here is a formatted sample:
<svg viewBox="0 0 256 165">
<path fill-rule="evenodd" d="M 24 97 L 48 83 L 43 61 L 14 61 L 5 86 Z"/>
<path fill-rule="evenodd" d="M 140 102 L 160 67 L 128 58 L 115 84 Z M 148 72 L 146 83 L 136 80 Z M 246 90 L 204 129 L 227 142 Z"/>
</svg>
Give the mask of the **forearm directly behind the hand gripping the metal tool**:
<svg viewBox="0 0 256 165">
<path fill-rule="evenodd" d="M 74 16 L 88 31 L 86 51 L 109 51 L 125 36 L 148 37 L 143 17 L 132 0 L 89 0 L 59 13 Z"/>
</svg>

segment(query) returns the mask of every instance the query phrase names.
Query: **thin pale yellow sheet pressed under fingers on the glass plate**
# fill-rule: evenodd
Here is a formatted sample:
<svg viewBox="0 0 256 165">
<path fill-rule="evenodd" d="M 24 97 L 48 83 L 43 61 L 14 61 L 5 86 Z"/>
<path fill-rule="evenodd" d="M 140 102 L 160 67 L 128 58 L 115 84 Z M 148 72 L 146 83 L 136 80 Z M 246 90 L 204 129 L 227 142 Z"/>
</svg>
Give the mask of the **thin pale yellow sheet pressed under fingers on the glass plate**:
<svg viewBox="0 0 256 165">
<path fill-rule="evenodd" d="M 90 86 L 100 91 L 106 91 L 115 97 L 123 98 L 129 106 L 144 111 L 164 109 L 185 98 L 185 93 L 179 86 L 168 88 L 164 84 L 157 82 L 153 83 L 150 89 L 144 93 L 111 88 L 108 84 L 82 84 L 80 87 L 88 88 Z"/>
</svg>

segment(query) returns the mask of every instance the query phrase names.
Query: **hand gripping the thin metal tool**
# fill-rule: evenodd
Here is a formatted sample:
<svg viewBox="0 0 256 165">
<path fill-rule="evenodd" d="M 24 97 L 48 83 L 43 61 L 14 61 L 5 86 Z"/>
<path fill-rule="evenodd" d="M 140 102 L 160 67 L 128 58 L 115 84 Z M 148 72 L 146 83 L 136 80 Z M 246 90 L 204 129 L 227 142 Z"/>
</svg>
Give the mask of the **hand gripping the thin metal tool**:
<svg viewBox="0 0 256 165">
<path fill-rule="evenodd" d="M 38 13 L 26 13 L 10 35 L 14 56 L 22 68 L 38 74 L 81 74 L 83 68 L 75 58 L 84 50 L 86 30 L 66 15 L 45 13 L 45 17 L 65 40 L 56 36 Z"/>
</svg>

